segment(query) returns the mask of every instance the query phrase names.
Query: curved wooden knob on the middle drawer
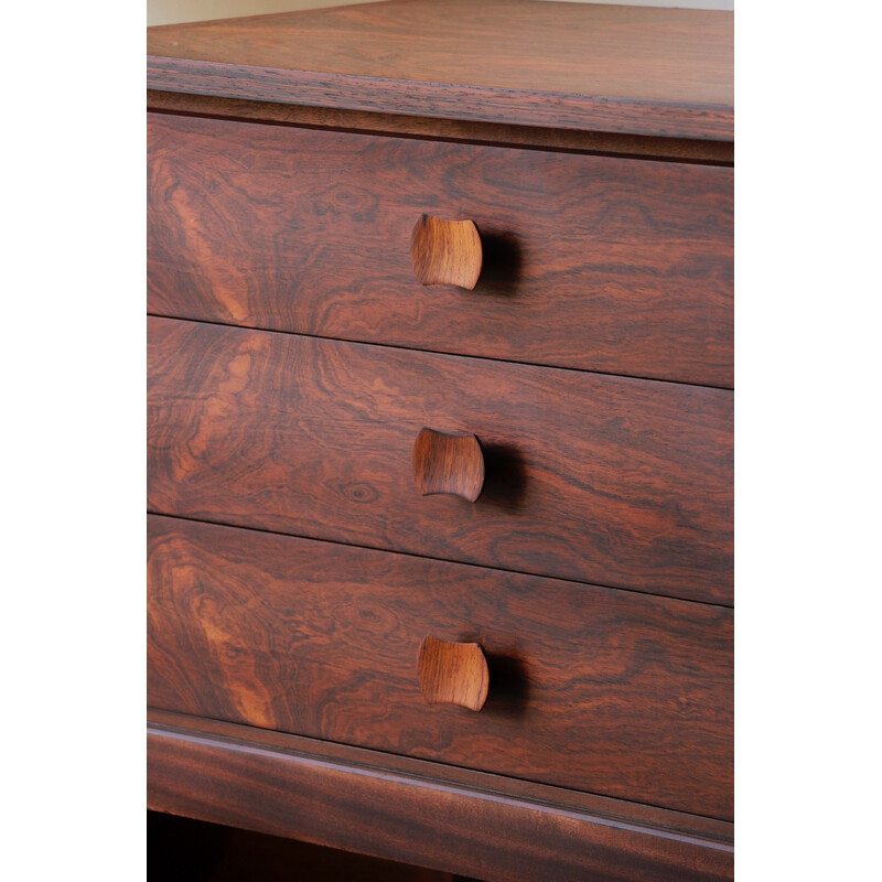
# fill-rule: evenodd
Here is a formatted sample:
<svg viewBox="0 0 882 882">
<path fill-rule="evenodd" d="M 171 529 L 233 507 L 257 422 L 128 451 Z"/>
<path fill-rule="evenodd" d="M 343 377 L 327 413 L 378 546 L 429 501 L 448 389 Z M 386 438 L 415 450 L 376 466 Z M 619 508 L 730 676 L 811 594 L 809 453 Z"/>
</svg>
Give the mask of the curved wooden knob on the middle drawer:
<svg viewBox="0 0 882 882">
<path fill-rule="evenodd" d="M 423 496 L 450 493 L 473 503 L 484 488 L 484 454 L 473 434 L 420 429 L 412 463 L 413 478 Z"/>
</svg>

